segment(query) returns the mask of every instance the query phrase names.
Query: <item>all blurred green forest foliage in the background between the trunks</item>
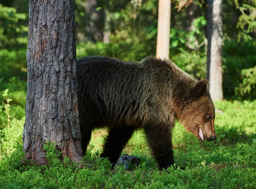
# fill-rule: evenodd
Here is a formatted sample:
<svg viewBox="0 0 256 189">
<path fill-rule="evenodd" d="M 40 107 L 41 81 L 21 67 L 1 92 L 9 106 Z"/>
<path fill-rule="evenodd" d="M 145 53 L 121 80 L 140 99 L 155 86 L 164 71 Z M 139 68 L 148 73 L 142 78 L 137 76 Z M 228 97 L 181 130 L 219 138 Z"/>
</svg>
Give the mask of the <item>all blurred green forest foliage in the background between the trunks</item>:
<svg viewBox="0 0 256 189">
<path fill-rule="evenodd" d="M 205 1 L 193 1 L 197 5 L 197 10 L 195 10 L 195 20 L 191 23 L 192 30 L 187 32 L 188 15 L 186 6 L 183 7 L 184 11 L 178 12 L 176 5 L 179 2 L 179 0 L 173 2 L 172 5 L 170 59 L 195 78 L 205 78 L 206 48 L 204 39 L 206 38 L 205 12 L 207 3 Z M 0 20 L 2 19 L 1 21 L 5 24 L 9 20 L 10 25 L 8 27 L 12 32 L 5 32 L 3 35 L 0 32 L 0 38 L 2 37 L 7 42 L 12 43 L 12 40 L 16 38 L 12 37 L 12 40 L 7 40 L 6 35 L 16 35 L 18 38 L 23 38 L 27 43 L 28 3 L 28 0 L 13 0 L 5 3 L 8 6 L 15 5 L 17 12 L 12 7 L 2 6 Z M 93 43 L 78 44 L 78 58 L 81 56 L 104 55 L 126 61 L 141 61 L 148 55 L 155 55 L 158 0 L 122 0 L 120 2 L 98 0 L 97 3 L 99 6 L 97 10 L 104 10 L 105 14 L 105 20 L 101 19 L 99 24 L 105 25 L 105 32 L 109 33 L 110 42 L 105 44 L 100 41 L 93 41 Z M 250 82 L 250 78 L 244 75 L 245 71 L 242 73 L 241 70 L 255 67 L 256 55 L 253 51 L 256 43 L 255 7 L 255 0 L 244 2 L 227 0 L 223 3 L 223 32 L 225 40 L 223 46 L 223 90 L 224 98 L 226 99 L 256 98 L 253 90 L 248 93 L 249 90 L 246 89 L 246 93 L 241 93 L 244 87 L 253 87 L 253 84 L 251 84 L 253 81 Z M 20 16 L 20 14 L 22 15 Z M 26 20 L 24 20 L 25 17 Z M 77 0 L 77 35 L 82 34 L 86 38 L 86 26 L 90 25 L 90 20 L 91 15 L 87 14 L 86 2 Z M 3 30 L 1 31 L 7 31 L 8 27 L 3 25 Z M 16 31 L 16 28 L 20 29 Z M 16 33 L 13 33 L 15 31 Z M 237 36 L 239 36 L 238 39 L 244 39 L 238 43 Z M 251 40 L 247 40 L 249 38 Z M 195 41 L 198 43 L 195 44 Z M 13 46 L 9 45 L 10 48 L 3 46 L 3 42 L 0 44 L 1 47 L 4 47 L 0 50 L 0 90 L 8 88 L 10 90 L 10 98 L 13 99 L 12 104 L 23 106 L 25 105 L 25 98 L 21 96 L 24 93 L 23 91 L 26 90 L 26 47 L 21 41 L 20 43 L 15 42 Z M 189 49 L 188 45 L 194 49 Z M 13 78 L 14 81 L 10 81 Z M 17 84 L 6 86 L 11 82 Z M 249 83 L 250 85 L 248 85 Z M 22 92 L 14 94 L 13 92 L 17 91 L 15 87 L 20 88 Z"/>
</svg>

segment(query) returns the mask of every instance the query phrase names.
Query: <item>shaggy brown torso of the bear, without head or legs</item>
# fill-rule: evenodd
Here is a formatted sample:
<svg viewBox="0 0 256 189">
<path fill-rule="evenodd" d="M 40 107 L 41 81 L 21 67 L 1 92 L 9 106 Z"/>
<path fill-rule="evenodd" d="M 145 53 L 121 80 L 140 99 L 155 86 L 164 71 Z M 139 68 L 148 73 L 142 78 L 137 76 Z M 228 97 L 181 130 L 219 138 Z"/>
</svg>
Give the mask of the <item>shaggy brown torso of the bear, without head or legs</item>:
<svg viewBox="0 0 256 189">
<path fill-rule="evenodd" d="M 154 57 L 141 62 L 80 58 L 78 98 L 83 107 L 79 114 L 92 120 L 96 116 L 98 125 L 140 125 L 148 119 L 168 119 L 178 76 L 187 77 L 171 61 Z"/>
</svg>

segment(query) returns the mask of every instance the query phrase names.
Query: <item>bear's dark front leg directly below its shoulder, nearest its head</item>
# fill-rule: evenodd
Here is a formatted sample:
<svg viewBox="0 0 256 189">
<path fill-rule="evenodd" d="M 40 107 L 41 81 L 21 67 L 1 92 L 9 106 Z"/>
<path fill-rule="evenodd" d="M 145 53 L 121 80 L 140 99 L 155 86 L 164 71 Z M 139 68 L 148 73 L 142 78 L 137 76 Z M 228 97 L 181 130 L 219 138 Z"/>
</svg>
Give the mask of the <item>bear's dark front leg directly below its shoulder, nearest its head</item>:
<svg viewBox="0 0 256 189">
<path fill-rule="evenodd" d="M 154 125 L 144 128 L 148 145 L 159 169 L 168 168 L 174 164 L 172 152 L 172 128 L 169 125 Z"/>
</svg>

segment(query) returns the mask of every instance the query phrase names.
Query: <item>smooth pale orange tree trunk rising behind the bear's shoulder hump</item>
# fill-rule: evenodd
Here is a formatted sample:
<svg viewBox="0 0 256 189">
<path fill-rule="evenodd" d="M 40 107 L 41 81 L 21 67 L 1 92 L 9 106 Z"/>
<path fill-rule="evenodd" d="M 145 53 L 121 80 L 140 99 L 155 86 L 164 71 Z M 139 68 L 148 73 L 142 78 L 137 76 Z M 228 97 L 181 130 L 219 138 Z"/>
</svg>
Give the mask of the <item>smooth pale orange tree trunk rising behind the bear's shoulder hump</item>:
<svg viewBox="0 0 256 189">
<path fill-rule="evenodd" d="M 171 0 L 159 0 L 157 23 L 157 57 L 169 59 Z"/>
</svg>

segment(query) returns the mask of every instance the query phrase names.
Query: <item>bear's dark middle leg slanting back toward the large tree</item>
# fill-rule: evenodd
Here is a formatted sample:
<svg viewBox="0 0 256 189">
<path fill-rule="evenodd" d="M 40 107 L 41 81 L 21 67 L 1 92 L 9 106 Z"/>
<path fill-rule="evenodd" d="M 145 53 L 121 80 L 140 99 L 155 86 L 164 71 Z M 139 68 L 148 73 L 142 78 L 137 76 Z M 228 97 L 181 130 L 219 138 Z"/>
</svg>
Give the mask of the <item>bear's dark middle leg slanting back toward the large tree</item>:
<svg viewBox="0 0 256 189">
<path fill-rule="evenodd" d="M 135 128 L 132 126 L 120 126 L 108 130 L 108 136 L 105 137 L 101 157 L 108 157 L 110 163 L 113 164 L 112 168 L 134 131 Z"/>
</svg>

